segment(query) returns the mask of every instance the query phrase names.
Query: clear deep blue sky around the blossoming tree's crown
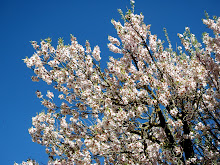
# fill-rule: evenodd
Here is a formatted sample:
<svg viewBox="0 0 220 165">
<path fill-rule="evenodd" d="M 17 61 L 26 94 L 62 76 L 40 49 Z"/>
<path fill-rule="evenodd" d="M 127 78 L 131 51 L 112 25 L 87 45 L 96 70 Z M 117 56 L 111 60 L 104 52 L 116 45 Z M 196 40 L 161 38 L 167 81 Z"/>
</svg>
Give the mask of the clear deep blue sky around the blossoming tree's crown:
<svg viewBox="0 0 220 165">
<path fill-rule="evenodd" d="M 34 53 L 29 41 L 51 37 L 55 46 L 63 37 L 68 44 L 73 34 L 82 45 L 86 40 L 91 46 L 99 45 L 105 66 L 112 55 L 107 48 L 108 35 L 116 36 L 110 21 L 120 20 L 117 9 L 126 11 L 129 4 L 129 0 L 0 0 L 0 164 L 28 158 L 47 162 L 44 147 L 33 143 L 28 134 L 31 118 L 44 109 L 35 91 L 48 89 L 45 83 L 31 81 L 32 70 L 22 61 Z M 136 0 L 135 6 L 159 38 L 165 39 L 163 28 L 167 28 L 174 46 L 176 34 L 183 33 L 185 26 L 201 38 L 206 31 L 201 20 L 204 10 L 210 16 L 220 16 L 219 0 Z"/>
</svg>

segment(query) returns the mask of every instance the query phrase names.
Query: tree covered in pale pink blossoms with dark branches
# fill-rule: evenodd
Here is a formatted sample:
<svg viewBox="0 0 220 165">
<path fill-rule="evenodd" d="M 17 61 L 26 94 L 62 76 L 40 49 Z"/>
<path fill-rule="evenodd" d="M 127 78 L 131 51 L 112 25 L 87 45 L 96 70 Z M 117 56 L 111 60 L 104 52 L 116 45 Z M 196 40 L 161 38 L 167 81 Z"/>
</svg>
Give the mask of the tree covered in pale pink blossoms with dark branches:
<svg viewBox="0 0 220 165">
<path fill-rule="evenodd" d="M 220 19 L 203 20 L 214 37 L 204 33 L 202 44 L 186 28 L 175 51 L 131 4 L 123 24 L 112 20 L 118 38 L 109 36 L 108 47 L 120 58 L 106 69 L 88 41 L 32 42 L 36 53 L 24 60 L 32 80 L 56 91 L 36 92 L 47 111 L 32 118 L 33 142 L 46 147 L 48 164 L 219 162 Z"/>
</svg>

